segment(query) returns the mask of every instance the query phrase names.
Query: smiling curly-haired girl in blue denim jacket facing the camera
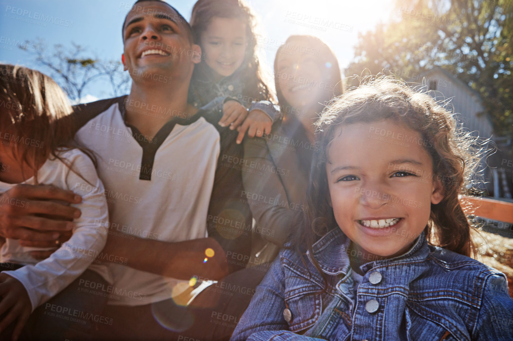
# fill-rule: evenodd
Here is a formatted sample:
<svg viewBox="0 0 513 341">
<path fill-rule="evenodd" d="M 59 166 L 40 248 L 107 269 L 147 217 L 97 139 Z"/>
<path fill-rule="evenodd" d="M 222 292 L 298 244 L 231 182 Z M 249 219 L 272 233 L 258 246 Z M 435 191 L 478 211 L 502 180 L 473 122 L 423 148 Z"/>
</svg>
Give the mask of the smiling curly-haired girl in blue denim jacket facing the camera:
<svg viewBox="0 0 513 341">
<path fill-rule="evenodd" d="M 309 210 L 232 340 L 512 340 L 505 275 L 469 256 L 475 139 L 378 78 L 317 122 Z"/>
</svg>

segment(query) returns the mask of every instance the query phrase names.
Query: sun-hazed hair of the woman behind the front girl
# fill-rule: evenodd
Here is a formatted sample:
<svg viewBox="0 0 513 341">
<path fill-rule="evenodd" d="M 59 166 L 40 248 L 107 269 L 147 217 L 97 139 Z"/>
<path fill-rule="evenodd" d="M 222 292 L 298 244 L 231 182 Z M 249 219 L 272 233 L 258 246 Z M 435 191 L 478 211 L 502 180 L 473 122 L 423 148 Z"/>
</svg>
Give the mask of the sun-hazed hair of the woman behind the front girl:
<svg viewBox="0 0 513 341">
<path fill-rule="evenodd" d="M 293 40 L 299 40 L 304 43 L 304 45 L 292 44 Z M 318 112 L 320 113 L 331 98 L 342 95 L 342 75 L 340 73 L 337 56 L 335 56 L 324 41 L 312 35 L 291 35 L 276 52 L 276 57 L 274 58 L 274 86 L 276 88 L 276 97 L 278 98 L 280 109 L 286 114 L 291 105 L 287 102 L 285 97 L 283 97 L 280 89 L 280 82 L 284 80 L 280 77 L 281 74 L 278 70 L 278 56 L 280 56 L 280 54 L 290 54 L 291 51 L 297 51 L 298 49 L 307 49 L 308 52 L 305 53 L 318 57 L 316 59 L 321 70 L 325 70 L 325 73 L 321 75 L 321 79 L 319 79 L 318 82 L 322 82 L 325 79 L 330 82 L 329 89 L 326 89 L 327 91 L 325 92 L 325 98 L 322 98 L 318 105 Z M 329 68 L 326 67 L 327 63 L 329 63 Z"/>
</svg>

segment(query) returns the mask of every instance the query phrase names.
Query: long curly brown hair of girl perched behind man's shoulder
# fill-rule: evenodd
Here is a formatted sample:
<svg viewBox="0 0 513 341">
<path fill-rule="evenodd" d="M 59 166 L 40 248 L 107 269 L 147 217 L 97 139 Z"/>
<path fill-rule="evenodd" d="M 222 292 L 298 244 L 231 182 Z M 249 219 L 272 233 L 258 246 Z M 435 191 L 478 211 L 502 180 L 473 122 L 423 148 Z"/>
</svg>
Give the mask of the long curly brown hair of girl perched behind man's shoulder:
<svg viewBox="0 0 513 341">
<path fill-rule="evenodd" d="M 255 100 L 267 100 L 276 102 L 273 89 L 269 87 L 269 77 L 265 74 L 262 64 L 265 61 L 263 54 L 257 49 L 258 22 L 249 5 L 245 0 L 198 0 L 192 8 L 190 25 L 194 36 L 195 44 L 201 46 L 201 34 L 207 30 L 213 17 L 238 18 L 246 23 L 246 47 L 245 59 L 235 72 L 242 74 L 241 80 L 244 83 L 244 95 Z M 205 69 L 204 58 L 202 62 L 194 67 L 191 85 L 194 79 L 198 78 Z"/>
</svg>

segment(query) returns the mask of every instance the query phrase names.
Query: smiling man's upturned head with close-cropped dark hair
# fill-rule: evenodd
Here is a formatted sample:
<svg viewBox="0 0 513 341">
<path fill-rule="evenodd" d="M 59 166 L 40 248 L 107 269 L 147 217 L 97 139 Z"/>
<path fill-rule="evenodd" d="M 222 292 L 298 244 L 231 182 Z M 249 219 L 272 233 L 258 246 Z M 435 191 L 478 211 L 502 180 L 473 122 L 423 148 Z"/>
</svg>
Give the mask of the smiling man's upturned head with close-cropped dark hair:
<svg viewBox="0 0 513 341">
<path fill-rule="evenodd" d="M 124 65 L 134 81 L 187 78 L 201 49 L 190 43 L 186 23 L 165 4 L 135 6 L 126 18 L 123 37 Z"/>
</svg>

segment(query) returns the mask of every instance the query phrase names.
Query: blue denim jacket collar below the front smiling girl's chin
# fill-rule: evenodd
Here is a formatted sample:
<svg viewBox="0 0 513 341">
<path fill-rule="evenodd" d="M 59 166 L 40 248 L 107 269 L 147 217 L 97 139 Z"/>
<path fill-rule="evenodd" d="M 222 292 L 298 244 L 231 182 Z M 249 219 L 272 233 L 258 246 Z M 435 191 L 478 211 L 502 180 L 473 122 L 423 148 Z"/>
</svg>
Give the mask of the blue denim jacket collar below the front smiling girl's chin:
<svg viewBox="0 0 513 341">
<path fill-rule="evenodd" d="M 344 235 L 339 227 L 333 228 L 312 246 L 313 257 L 319 263 L 320 268 L 327 274 L 347 274 L 350 268 L 349 257 L 340 257 L 347 254 L 351 240 Z M 380 265 L 392 265 L 393 263 L 422 261 L 428 257 L 430 250 L 424 232 L 420 234 L 413 245 L 405 253 L 390 259 L 382 259 L 367 262 L 360 266 L 363 273 Z M 308 251 L 310 261 L 311 254 Z"/>
</svg>

